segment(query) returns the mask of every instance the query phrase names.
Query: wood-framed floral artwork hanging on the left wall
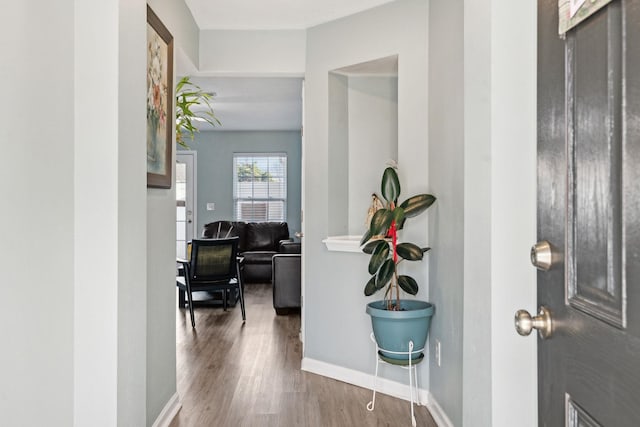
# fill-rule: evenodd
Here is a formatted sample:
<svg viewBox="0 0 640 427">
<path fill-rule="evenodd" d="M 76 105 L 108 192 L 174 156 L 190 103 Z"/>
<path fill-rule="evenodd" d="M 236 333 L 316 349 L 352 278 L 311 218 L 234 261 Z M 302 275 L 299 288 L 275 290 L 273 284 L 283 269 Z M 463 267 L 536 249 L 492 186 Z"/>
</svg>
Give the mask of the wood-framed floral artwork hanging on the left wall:
<svg viewBox="0 0 640 427">
<path fill-rule="evenodd" d="M 171 188 L 173 36 L 147 5 L 147 187 Z"/>
</svg>

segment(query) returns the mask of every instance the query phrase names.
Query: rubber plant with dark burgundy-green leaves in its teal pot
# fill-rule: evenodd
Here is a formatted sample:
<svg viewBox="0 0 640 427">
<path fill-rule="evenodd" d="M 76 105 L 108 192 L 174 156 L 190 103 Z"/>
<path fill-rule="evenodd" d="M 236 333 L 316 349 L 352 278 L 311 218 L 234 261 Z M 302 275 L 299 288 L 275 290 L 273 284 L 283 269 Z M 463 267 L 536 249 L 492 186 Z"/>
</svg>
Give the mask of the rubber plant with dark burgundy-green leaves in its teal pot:
<svg viewBox="0 0 640 427">
<path fill-rule="evenodd" d="M 413 277 L 400 274 L 399 267 L 406 261 L 421 261 L 430 248 L 400 242 L 398 235 L 407 219 L 425 212 L 436 198 L 431 194 L 418 194 L 398 203 L 400 180 L 393 167 L 387 167 L 382 174 L 381 192 L 383 206 L 373 214 L 360 243 L 362 250 L 371 255 L 368 266 L 371 278 L 364 294 L 370 296 L 384 290 L 384 298 L 367 304 L 367 313 L 384 357 L 408 360 L 412 341 L 411 358 L 417 359 L 422 357 L 420 350 L 427 341 L 433 305 L 401 298 L 401 292 L 416 295 L 418 283 Z"/>
</svg>

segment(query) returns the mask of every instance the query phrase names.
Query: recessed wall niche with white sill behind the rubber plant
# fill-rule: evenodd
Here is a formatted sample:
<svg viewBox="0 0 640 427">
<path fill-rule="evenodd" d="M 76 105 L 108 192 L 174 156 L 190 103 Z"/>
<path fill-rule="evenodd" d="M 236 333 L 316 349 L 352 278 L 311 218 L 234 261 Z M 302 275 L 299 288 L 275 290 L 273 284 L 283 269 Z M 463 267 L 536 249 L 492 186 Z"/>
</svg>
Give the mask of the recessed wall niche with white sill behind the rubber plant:
<svg viewBox="0 0 640 427">
<path fill-rule="evenodd" d="M 325 244 L 359 252 L 380 171 L 398 158 L 398 55 L 331 70 L 328 79 L 331 237 Z"/>
</svg>

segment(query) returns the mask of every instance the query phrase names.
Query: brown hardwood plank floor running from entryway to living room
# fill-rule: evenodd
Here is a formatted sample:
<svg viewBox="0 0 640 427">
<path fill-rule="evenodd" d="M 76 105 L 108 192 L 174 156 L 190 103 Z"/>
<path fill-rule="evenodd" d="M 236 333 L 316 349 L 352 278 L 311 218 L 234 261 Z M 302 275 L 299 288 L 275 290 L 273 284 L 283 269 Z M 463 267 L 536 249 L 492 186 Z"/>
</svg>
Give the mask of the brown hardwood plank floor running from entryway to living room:
<svg viewBox="0 0 640 427">
<path fill-rule="evenodd" d="M 170 427 L 410 426 L 409 402 L 300 370 L 300 315 L 276 316 L 270 285 L 246 286 L 239 304 L 177 310 L 177 381 L 182 409 Z M 418 426 L 436 427 L 423 406 Z"/>
</svg>

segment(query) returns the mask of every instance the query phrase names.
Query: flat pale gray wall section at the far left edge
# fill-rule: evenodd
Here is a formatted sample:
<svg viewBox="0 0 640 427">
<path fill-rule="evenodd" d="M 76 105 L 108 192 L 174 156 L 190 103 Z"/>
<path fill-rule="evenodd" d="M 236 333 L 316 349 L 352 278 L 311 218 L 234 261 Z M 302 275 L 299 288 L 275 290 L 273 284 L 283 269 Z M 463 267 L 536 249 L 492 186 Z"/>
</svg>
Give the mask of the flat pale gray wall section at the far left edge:
<svg viewBox="0 0 640 427">
<path fill-rule="evenodd" d="M 13 101 L 0 106 L 0 413 L 6 425 L 73 425 L 74 2 L 3 6 L 0 76 Z M 12 113 L 39 98 L 39 126 Z"/>
</svg>

